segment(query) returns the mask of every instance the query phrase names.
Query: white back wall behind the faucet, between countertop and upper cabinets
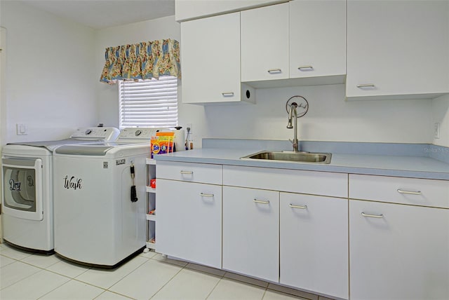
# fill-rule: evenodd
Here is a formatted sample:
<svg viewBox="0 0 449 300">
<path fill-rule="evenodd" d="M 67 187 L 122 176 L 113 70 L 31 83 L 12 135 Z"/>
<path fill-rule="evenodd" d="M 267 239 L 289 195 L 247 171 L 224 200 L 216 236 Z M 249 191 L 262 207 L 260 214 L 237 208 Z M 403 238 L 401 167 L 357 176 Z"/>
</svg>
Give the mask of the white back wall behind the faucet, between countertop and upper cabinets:
<svg viewBox="0 0 449 300">
<path fill-rule="evenodd" d="M 309 111 L 298 119 L 300 140 L 431 142 L 430 100 L 344 101 L 344 85 L 256 90 L 254 106 L 206 107 L 208 137 L 291 139 L 286 102 L 302 95 Z"/>
</svg>

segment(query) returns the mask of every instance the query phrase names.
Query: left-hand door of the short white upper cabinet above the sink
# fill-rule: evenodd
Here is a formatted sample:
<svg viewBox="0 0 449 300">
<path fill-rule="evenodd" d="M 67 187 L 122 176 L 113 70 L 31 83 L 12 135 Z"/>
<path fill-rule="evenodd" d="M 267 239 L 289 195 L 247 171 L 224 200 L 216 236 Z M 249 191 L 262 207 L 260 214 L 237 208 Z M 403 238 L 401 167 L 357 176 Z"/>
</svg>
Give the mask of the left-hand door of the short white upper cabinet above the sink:
<svg viewBox="0 0 449 300">
<path fill-rule="evenodd" d="M 241 12 L 241 81 L 288 79 L 288 3 Z"/>
</svg>

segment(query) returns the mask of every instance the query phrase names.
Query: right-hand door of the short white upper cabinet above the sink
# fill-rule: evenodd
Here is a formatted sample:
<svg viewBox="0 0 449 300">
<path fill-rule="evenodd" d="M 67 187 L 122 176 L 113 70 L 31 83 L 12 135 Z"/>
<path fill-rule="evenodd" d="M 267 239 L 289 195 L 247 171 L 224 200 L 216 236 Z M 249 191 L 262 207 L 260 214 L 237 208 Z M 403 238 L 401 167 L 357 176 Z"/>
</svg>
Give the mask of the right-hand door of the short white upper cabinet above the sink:
<svg viewBox="0 0 449 300">
<path fill-rule="evenodd" d="M 346 0 L 290 1 L 290 78 L 346 74 Z"/>
</svg>

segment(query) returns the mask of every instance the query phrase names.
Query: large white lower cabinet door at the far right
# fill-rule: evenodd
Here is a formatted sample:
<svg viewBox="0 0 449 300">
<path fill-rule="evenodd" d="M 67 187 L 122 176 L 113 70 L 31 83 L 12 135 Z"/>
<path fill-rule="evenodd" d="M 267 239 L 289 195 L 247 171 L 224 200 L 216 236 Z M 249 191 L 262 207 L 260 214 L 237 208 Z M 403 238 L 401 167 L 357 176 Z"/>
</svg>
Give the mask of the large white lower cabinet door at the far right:
<svg viewBox="0 0 449 300">
<path fill-rule="evenodd" d="M 449 210 L 349 200 L 351 300 L 449 299 Z"/>
</svg>

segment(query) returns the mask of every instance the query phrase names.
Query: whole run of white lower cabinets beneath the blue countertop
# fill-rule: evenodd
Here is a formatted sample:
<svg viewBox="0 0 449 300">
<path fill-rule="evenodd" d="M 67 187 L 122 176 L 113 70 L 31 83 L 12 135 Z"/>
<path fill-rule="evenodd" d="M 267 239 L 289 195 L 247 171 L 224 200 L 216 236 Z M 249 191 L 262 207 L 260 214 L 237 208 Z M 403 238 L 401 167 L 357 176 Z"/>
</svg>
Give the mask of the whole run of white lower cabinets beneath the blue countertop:
<svg viewBox="0 0 449 300">
<path fill-rule="evenodd" d="M 156 168 L 160 253 L 338 299 L 449 299 L 448 181 Z"/>
</svg>

